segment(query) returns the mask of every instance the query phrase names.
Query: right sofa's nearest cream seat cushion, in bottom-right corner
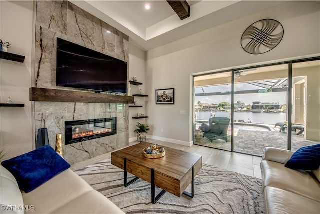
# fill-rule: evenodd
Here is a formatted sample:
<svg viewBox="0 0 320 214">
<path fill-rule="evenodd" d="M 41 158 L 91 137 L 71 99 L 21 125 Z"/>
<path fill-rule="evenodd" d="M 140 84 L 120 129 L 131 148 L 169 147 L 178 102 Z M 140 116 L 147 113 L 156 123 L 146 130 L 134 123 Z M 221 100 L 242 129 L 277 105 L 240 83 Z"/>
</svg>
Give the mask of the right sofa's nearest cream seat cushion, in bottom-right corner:
<svg viewBox="0 0 320 214">
<path fill-rule="evenodd" d="M 319 202 L 279 188 L 267 186 L 263 196 L 265 211 L 268 214 L 320 213 Z"/>
</svg>

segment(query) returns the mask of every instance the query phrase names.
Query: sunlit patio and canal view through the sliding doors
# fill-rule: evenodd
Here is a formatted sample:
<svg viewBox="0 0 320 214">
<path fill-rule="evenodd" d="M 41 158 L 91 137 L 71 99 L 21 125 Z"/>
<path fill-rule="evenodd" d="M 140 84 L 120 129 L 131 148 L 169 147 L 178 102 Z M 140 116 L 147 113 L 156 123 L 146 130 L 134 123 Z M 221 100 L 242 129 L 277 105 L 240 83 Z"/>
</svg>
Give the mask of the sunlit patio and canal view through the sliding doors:
<svg viewBox="0 0 320 214">
<path fill-rule="evenodd" d="M 231 71 L 194 77 L 194 143 L 229 151 L 233 143 L 233 151 L 259 156 L 268 146 L 295 151 L 319 143 L 319 106 L 306 105 L 308 96 L 319 97 L 306 87 L 319 85 L 319 61 L 293 64 L 292 74 L 290 124 L 288 64 L 235 71 L 233 105 Z"/>
</svg>

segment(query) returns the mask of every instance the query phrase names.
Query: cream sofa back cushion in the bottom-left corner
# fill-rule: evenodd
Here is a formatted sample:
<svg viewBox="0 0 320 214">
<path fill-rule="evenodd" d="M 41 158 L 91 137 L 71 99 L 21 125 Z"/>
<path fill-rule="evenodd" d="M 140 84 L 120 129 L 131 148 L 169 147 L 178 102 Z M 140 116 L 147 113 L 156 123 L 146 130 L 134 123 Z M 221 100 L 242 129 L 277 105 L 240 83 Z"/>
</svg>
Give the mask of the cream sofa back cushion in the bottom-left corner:
<svg viewBox="0 0 320 214">
<path fill-rule="evenodd" d="M 14 176 L 3 166 L 0 169 L 0 213 L 23 214 L 23 198 Z M 8 210 L 6 207 L 12 210 Z"/>
</svg>

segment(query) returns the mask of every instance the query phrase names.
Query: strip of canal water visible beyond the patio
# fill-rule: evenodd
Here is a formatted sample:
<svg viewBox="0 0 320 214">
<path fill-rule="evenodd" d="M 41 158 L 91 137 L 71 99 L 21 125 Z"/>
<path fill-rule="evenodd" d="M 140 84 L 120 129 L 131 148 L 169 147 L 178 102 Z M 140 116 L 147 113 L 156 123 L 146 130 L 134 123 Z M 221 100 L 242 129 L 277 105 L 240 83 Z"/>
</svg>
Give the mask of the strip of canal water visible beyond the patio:
<svg viewBox="0 0 320 214">
<path fill-rule="evenodd" d="M 195 111 L 195 118 L 200 120 L 209 120 L 211 117 L 228 117 L 231 118 L 231 112 L 225 111 Z M 249 111 L 235 111 L 233 120 L 243 120 L 248 122 L 251 120 L 251 123 L 263 123 L 263 124 L 275 124 L 278 122 L 286 121 L 286 113 L 255 113 Z"/>
</svg>

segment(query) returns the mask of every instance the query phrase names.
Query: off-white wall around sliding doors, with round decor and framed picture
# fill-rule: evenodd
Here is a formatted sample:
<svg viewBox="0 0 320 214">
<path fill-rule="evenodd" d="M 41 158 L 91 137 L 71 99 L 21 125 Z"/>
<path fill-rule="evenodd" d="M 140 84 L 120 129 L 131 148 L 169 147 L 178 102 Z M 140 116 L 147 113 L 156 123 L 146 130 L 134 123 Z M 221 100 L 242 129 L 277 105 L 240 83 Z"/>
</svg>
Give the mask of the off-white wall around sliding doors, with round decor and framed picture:
<svg viewBox="0 0 320 214">
<path fill-rule="evenodd" d="M 192 74 L 318 55 L 319 4 L 292 1 L 148 51 L 145 81 L 146 90 L 152 94 L 146 108 L 146 114 L 150 115 L 149 134 L 155 139 L 185 145 L 192 141 Z M 252 23 L 267 18 L 283 25 L 282 41 L 264 54 L 248 54 L 240 44 L 242 33 Z M 155 104 L 154 91 L 161 88 L 175 88 L 174 105 Z M 186 110 L 187 114 L 180 114 L 180 110 Z"/>
</svg>

